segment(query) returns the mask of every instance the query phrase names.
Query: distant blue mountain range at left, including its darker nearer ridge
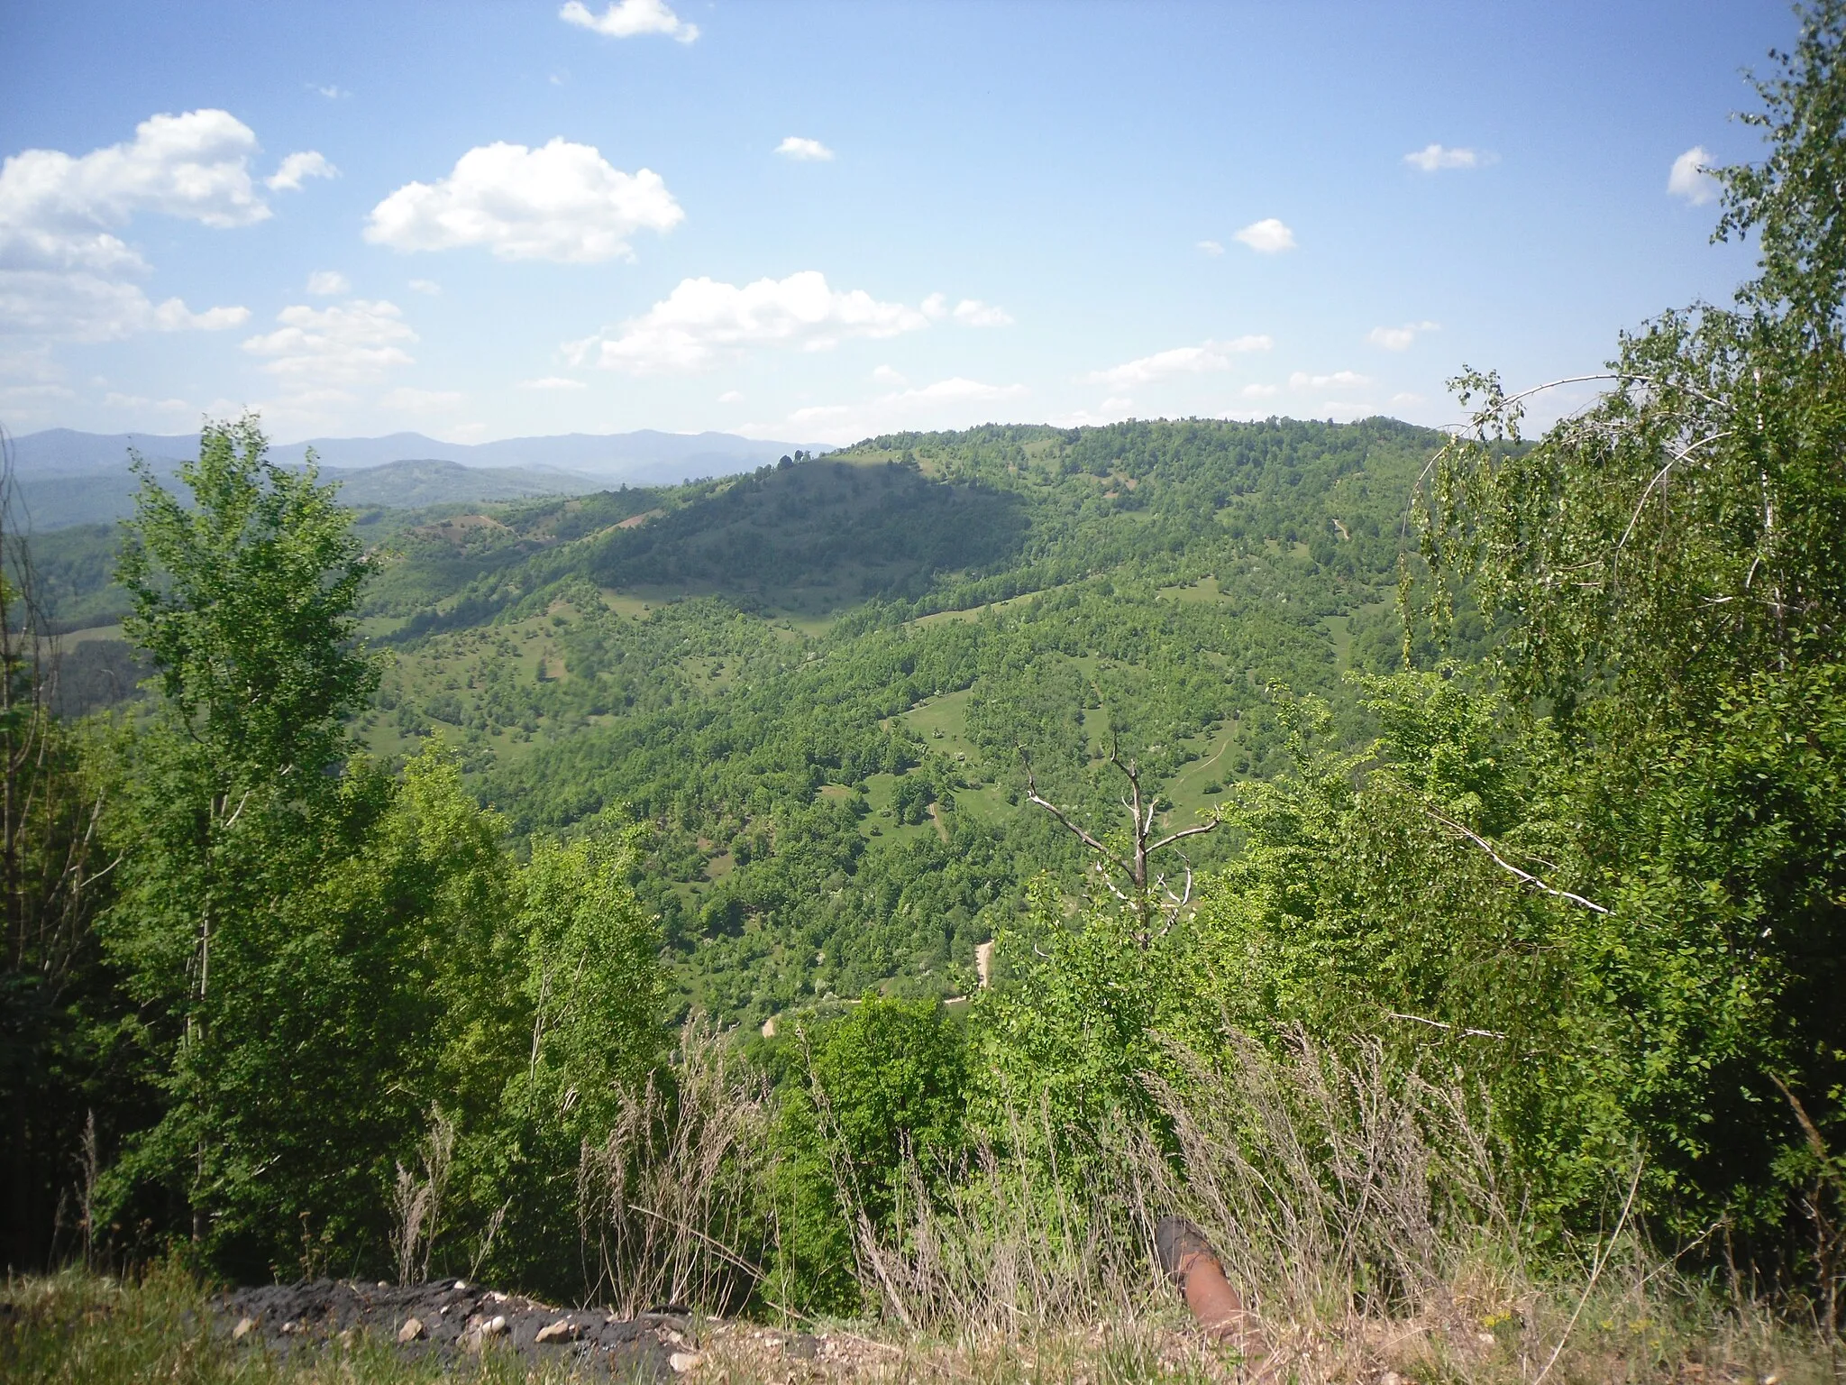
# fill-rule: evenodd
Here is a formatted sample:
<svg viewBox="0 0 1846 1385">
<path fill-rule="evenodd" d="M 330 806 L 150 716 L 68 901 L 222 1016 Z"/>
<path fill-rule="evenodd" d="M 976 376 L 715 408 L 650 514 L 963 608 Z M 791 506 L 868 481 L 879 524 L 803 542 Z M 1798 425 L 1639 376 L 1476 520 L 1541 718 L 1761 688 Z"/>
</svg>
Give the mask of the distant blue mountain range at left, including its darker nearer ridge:
<svg viewBox="0 0 1846 1385">
<path fill-rule="evenodd" d="M 157 471 L 198 456 L 199 436 L 76 432 L 50 428 L 11 440 L 13 475 L 35 530 L 120 519 L 133 510 L 127 454 Z M 777 443 L 727 432 L 615 432 L 443 443 L 421 432 L 388 438 L 316 438 L 270 449 L 284 465 L 314 451 L 347 504 L 415 508 L 485 504 L 533 495 L 585 495 L 613 486 L 670 486 L 692 476 L 727 476 L 775 462 L 812 443 Z"/>
</svg>

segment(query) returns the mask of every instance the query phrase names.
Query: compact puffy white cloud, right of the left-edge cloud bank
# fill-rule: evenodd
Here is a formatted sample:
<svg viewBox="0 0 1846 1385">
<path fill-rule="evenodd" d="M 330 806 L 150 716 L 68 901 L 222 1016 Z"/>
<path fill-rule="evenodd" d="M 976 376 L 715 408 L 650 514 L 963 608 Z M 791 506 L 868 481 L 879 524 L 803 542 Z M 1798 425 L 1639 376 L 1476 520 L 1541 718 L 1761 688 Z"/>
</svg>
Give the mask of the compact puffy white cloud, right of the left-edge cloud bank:
<svg viewBox="0 0 1846 1385">
<path fill-rule="evenodd" d="M 554 138 L 482 144 L 436 183 L 406 183 L 371 209 L 366 240 L 393 249 L 487 246 L 504 260 L 594 264 L 628 255 L 635 231 L 685 218 L 661 175 L 624 174 L 593 146 Z"/>
</svg>

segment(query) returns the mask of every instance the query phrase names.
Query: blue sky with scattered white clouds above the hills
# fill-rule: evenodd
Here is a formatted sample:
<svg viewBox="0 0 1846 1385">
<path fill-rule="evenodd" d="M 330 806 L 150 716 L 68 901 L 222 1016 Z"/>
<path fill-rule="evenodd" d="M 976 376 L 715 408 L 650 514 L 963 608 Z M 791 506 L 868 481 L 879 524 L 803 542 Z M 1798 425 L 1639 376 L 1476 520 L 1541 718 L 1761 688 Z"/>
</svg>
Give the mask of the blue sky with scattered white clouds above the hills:
<svg viewBox="0 0 1846 1385">
<path fill-rule="evenodd" d="M 1687 164 L 1756 157 L 1728 114 L 1794 18 L 13 0 L 6 31 L 11 432 L 849 441 L 1444 423 L 1464 362 L 1593 369 L 1748 273 Z"/>
</svg>

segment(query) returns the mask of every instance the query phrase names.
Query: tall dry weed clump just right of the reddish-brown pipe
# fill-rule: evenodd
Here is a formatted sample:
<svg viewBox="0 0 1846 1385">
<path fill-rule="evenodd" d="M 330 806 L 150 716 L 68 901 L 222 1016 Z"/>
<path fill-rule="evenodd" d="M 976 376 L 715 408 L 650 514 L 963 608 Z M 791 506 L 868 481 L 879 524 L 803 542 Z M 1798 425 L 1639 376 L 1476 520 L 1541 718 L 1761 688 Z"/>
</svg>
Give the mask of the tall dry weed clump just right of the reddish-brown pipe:
<svg viewBox="0 0 1846 1385">
<path fill-rule="evenodd" d="M 1172 1147 L 1137 1141 L 1141 1176 L 1265 1311 L 1425 1313 L 1482 1254 L 1517 1263 L 1517 1204 L 1479 1093 L 1377 1042 L 1333 1053 L 1301 1030 L 1279 1056 L 1242 1034 L 1211 1058 L 1170 1056 L 1180 1080 L 1146 1082 Z"/>
</svg>

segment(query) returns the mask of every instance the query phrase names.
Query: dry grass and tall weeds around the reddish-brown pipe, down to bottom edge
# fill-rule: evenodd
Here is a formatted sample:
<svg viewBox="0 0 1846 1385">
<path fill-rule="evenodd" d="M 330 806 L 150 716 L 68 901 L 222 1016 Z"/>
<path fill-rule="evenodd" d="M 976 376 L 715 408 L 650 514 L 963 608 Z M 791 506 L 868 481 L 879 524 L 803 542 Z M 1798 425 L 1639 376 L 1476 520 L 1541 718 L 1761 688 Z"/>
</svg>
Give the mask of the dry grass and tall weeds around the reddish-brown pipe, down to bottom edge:
<svg viewBox="0 0 1846 1385">
<path fill-rule="evenodd" d="M 1002 1152 L 1056 1145 L 1045 1114 L 1036 1139 L 1015 1117 L 947 1191 L 914 1174 L 895 1234 L 858 1217 L 862 1289 L 892 1333 L 858 1374 L 1102 1381 L 1104 1344 L 1143 1343 L 1146 1379 L 1840 1379 L 1811 1326 L 1687 1280 L 1615 1208 L 1575 1258 L 1534 1256 L 1477 1093 L 1305 1036 L 1283 1056 L 1239 1036 L 1217 1062 L 1172 1056 L 1181 1080 L 1154 1082 L 1167 1132 L 1106 1132 L 1084 1180 Z M 1207 1232 L 1257 1311 L 1248 1359 L 1205 1344 L 1154 1269 L 1169 1213 Z"/>
</svg>

